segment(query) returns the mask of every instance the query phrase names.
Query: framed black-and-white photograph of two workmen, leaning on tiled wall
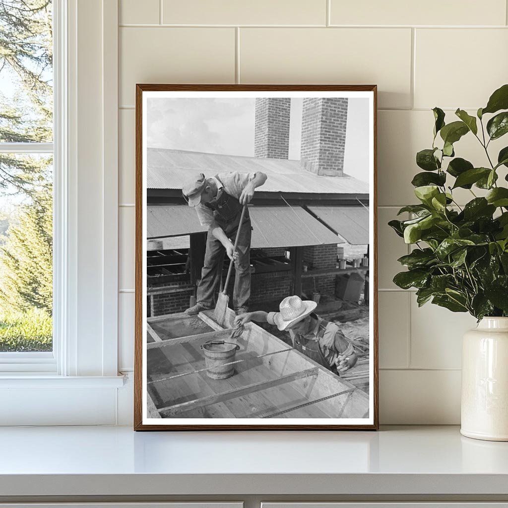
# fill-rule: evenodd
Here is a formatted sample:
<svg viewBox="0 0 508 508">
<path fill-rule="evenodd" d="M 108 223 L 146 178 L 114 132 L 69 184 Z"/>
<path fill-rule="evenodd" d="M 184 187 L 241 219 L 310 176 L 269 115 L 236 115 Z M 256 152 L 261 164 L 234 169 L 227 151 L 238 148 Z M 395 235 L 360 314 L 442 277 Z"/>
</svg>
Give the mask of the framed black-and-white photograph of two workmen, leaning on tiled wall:
<svg viewBox="0 0 508 508">
<path fill-rule="evenodd" d="M 375 85 L 138 84 L 135 430 L 377 429 Z"/>
</svg>

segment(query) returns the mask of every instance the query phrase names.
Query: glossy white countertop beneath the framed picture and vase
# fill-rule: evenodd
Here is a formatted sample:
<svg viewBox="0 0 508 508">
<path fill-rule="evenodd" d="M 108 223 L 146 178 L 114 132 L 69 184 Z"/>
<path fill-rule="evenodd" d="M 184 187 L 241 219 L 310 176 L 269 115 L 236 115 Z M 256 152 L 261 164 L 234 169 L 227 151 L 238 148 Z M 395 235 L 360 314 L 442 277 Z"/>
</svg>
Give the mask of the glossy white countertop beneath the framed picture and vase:
<svg viewBox="0 0 508 508">
<path fill-rule="evenodd" d="M 508 442 L 463 437 L 455 426 L 379 432 L 2 428 L 0 457 L 2 496 L 508 494 Z"/>
</svg>

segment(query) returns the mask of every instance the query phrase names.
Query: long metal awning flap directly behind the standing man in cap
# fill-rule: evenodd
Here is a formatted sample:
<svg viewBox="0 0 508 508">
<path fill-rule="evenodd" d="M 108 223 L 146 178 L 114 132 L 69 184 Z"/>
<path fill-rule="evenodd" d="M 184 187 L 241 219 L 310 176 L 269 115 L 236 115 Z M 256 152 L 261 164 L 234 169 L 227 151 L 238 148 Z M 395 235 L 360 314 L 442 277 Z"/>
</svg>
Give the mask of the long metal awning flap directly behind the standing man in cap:
<svg viewBox="0 0 508 508">
<path fill-rule="evenodd" d="M 148 205 L 147 237 L 167 238 L 206 231 L 196 210 L 185 205 Z M 249 206 L 253 248 L 337 243 L 337 236 L 303 208 Z"/>
</svg>

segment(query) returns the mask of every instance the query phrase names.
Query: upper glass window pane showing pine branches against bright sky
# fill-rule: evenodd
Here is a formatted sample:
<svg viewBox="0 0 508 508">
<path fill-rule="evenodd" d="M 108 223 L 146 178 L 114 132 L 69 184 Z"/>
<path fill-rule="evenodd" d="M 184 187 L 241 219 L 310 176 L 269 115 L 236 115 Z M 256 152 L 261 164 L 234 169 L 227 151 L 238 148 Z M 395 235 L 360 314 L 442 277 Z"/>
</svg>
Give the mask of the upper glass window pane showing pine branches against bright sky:
<svg viewBox="0 0 508 508">
<path fill-rule="evenodd" d="M 0 143 L 53 139 L 51 7 L 50 0 L 0 1 Z"/>
</svg>

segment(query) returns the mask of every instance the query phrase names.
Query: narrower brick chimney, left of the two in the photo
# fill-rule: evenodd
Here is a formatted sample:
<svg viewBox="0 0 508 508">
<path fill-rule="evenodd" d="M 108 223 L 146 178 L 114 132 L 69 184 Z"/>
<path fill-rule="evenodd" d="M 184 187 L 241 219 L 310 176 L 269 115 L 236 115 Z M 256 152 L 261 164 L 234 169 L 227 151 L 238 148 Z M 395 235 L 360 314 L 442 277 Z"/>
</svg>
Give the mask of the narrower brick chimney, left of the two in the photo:
<svg viewBox="0 0 508 508">
<path fill-rule="evenodd" d="M 288 158 L 291 99 L 261 97 L 256 99 L 254 155 Z"/>
</svg>

